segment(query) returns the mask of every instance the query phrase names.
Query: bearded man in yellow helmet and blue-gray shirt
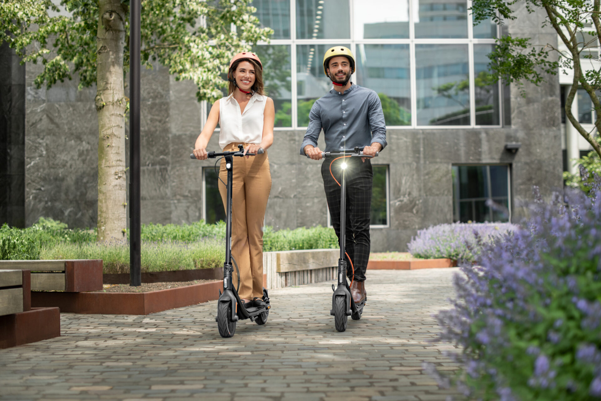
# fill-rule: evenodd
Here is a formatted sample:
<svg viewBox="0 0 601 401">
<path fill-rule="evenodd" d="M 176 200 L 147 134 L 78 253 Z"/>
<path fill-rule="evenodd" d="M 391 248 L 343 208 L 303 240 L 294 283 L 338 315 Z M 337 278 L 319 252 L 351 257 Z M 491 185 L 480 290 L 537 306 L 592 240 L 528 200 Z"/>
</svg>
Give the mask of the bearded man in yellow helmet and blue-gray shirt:
<svg viewBox="0 0 601 401">
<path fill-rule="evenodd" d="M 355 72 L 355 58 L 344 46 L 334 46 L 323 57 L 323 70 L 334 89 L 318 99 L 309 113 L 309 126 L 301 145 L 301 155 L 322 159 L 317 138 L 323 129 L 325 152 L 340 152 L 364 147 L 363 153 L 375 156 L 386 146 L 386 124 L 377 93 L 350 82 Z M 322 164 L 323 187 L 328 200 L 332 225 L 340 240 L 340 163 L 346 162 L 346 253 L 355 268 L 347 262 L 347 276 L 353 278 L 350 293 L 356 304 L 365 301 L 365 271 L 370 257 L 370 209 L 373 172 L 367 158 L 338 159 Z M 331 172 L 330 172 L 331 171 Z"/>
</svg>

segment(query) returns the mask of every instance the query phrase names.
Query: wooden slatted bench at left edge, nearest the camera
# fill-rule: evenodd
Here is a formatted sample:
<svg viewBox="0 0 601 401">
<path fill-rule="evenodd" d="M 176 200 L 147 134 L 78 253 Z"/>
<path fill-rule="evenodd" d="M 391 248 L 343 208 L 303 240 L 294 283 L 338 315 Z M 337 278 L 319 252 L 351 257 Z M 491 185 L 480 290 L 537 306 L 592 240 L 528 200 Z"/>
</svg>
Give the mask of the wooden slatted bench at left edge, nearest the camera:
<svg viewBox="0 0 601 401">
<path fill-rule="evenodd" d="M 28 270 L 0 270 L 0 316 L 31 309 Z"/>
</svg>

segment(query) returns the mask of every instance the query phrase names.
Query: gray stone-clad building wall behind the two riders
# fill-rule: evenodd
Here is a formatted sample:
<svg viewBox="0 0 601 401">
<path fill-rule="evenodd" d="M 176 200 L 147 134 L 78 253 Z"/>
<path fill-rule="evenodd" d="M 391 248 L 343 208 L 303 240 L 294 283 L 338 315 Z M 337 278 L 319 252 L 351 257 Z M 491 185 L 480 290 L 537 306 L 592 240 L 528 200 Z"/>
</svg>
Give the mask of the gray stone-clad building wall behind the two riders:
<svg viewBox="0 0 601 401">
<path fill-rule="evenodd" d="M 557 43 L 538 14 L 520 13 L 511 33 Z M 35 90 L 37 66 L 26 70 L 26 223 L 40 216 L 70 227 L 96 225 L 97 120 L 95 88 L 77 82 Z M 519 203 L 561 188 L 560 87 L 557 77 L 526 96 L 511 87 L 511 127 L 482 129 L 398 129 L 376 164 L 389 165 L 388 228 L 372 230 L 374 251 L 402 251 L 420 228 L 453 221 L 453 164 L 511 165 L 514 221 Z M 200 133 L 201 103 L 191 82 L 177 82 L 166 69 L 142 71 L 142 222 L 185 223 L 201 218 L 202 167 L 189 159 Z M 127 126 L 128 123 L 126 123 Z M 326 225 L 327 206 L 320 163 L 298 155 L 304 131 L 276 131 L 269 160 L 273 186 L 266 224 L 279 228 Z M 506 142 L 521 142 L 516 154 Z M 322 139 L 323 145 L 323 139 Z M 218 132 L 210 148 L 218 148 Z"/>
</svg>

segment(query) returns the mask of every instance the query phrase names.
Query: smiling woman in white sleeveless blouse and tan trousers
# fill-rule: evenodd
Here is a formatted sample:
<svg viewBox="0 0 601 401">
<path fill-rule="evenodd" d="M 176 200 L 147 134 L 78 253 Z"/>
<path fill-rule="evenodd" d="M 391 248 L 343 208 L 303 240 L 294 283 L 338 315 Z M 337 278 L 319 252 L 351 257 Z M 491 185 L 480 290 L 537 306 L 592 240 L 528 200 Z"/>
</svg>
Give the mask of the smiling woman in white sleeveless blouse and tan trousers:
<svg viewBox="0 0 601 401">
<path fill-rule="evenodd" d="M 256 156 L 234 158 L 232 186 L 231 253 L 240 271 L 238 294 L 246 307 L 264 307 L 263 297 L 263 218 L 271 190 L 267 152 L 273 143 L 273 100 L 264 96 L 263 66 L 257 55 L 235 55 L 228 71 L 228 96 L 219 99 L 209 112 L 207 123 L 196 140 L 194 155 L 207 159 L 207 144 L 219 123 L 219 146 L 224 152 L 244 146 L 244 154 Z M 219 193 L 224 202 L 227 171 L 222 159 L 219 170 Z M 237 283 L 234 269 L 234 283 Z"/>
</svg>

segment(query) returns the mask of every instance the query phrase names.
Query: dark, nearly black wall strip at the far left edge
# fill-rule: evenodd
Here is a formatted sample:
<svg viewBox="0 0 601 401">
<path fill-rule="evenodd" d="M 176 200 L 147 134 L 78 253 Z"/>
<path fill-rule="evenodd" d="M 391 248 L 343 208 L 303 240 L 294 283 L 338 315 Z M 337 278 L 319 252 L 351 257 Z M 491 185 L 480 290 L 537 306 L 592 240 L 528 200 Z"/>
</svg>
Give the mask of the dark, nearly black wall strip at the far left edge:
<svg viewBox="0 0 601 401">
<path fill-rule="evenodd" d="M 0 45 L 0 225 L 25 227 L 25 66 Z"/>
</svg>

